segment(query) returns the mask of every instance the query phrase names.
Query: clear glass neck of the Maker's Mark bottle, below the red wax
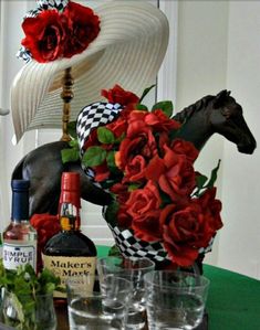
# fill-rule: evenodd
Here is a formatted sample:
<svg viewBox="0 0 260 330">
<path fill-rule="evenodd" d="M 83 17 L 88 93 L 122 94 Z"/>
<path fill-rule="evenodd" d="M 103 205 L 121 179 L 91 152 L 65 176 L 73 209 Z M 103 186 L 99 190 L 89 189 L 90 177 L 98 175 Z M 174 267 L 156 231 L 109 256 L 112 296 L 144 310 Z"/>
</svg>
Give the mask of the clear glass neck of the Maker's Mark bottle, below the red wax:
<svg viewBox="0 0 260 330">
<path fill-rule="evenodd" d="M 80 209 L 72 203 L 62 203 L 60 207 L 60 222 L 62 231 L 80 231 Z"/>
</svg>

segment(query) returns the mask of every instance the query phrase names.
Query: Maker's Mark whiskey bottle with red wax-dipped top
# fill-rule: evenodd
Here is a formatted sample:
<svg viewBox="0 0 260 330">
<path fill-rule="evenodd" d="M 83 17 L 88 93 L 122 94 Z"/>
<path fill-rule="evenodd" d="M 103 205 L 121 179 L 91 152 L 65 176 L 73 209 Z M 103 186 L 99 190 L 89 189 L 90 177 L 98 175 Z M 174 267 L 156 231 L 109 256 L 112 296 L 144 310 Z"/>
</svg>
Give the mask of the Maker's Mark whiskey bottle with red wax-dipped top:
<svg viewBox="0 0 260 330">
<path fill-rule="evenodd" d="M 71 276 L 95 274 L 96 247 L 81 232 L 80 174 L 64 172 L 61 182 L 60 222 L 61 232 L 48 241 L 43 248 L 43 265 L 65 281 Z M 65 298 L 54 292 L 54 297 Z"/>
</svg>

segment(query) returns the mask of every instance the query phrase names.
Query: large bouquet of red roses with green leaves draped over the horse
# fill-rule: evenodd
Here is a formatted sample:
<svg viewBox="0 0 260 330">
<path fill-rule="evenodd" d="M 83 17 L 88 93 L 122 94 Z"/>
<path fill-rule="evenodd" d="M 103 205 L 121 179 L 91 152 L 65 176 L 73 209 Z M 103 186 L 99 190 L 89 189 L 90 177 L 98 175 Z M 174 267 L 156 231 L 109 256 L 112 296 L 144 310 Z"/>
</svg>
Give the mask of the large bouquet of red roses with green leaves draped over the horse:
<svg viewBox="0 0 260 330">
<path fill-rule="evenodd" d="M 160 102 L 149 111 L 142 104 L 147 92 L 138 98 L 118 85 L 102 91 L 119 111 L 85 137 L 82 163 L 113 196 L 104 213 L 115 235 L 126 231 L 116 239 L 121 252 L 127 255 L 127 248 L 138 242 L 139 256 L 146 255 L 146 247 L 152 257 L 162 251 L 160 259 L 186 267 L 222 226 L 221 202 L 214 187 L 219 163 L 209 179 L 197 172 L 194 162 L 199 152 L 178 138 L 185 124 L 170 118 L 173 104 Z"/>
</svg>

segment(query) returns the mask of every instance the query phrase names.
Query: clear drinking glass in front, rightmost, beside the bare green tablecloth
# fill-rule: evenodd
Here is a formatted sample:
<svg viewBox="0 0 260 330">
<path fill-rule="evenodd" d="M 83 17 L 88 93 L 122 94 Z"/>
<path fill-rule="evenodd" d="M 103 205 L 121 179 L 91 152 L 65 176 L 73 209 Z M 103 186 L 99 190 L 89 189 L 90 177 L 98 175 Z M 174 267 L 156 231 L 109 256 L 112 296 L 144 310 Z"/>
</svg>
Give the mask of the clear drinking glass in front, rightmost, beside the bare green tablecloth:
<svg viewBox="0 0 260 330">
<path fill-rule="evenodd" d="M 206 277 L 155 270 L 144 280 L 149 330 L 190 330 L 201 322 L 209 287 Z"/>
</svg>

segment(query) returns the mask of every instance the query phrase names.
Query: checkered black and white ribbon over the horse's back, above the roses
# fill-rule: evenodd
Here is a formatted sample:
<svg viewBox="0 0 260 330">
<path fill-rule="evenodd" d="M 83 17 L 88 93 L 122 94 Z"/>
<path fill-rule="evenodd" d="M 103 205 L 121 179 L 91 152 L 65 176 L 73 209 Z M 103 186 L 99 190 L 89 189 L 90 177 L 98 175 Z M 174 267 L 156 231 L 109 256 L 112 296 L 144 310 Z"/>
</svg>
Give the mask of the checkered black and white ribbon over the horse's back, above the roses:
<svg viewBox="0 0 260 330">
<path fill-rule="evenodd" d="M 123 110 L 123 106 L 118 103 L 97 102 L 84 107 L 77 116 L 76 134 L 80 145 L 81 156 L 83 156 L 83 147 L 93 128 L 112 123 Z M 82 168 L 87 177 L 93 179 L 94 172 L 92 169 L 82 164 Z"/>
</svg>

